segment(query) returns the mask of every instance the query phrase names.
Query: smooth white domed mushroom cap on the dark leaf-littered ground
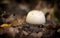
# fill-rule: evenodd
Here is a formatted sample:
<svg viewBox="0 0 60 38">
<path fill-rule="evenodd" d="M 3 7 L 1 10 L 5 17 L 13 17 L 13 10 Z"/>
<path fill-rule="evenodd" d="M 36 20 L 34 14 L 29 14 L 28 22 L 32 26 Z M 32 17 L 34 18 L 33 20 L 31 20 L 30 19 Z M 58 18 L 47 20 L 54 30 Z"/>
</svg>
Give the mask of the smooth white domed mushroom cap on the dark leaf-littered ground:
<svg viewBox="0 0 60 38">
<path fill-rule="evenodd" d="M 46 22 L 45 15 L 42 11 L 32 10 L 27 14 L 26 22 L 29 24 L 44 24 Z"/>
</svg>

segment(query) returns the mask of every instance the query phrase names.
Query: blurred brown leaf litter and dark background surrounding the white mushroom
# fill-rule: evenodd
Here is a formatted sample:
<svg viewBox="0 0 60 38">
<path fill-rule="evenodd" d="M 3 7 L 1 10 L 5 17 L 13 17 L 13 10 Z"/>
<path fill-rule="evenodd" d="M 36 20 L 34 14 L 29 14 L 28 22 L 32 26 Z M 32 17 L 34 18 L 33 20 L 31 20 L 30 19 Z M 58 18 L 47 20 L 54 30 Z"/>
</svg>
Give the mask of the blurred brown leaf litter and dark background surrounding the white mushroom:
<svg viewBox="0 0 60 38">
<path fill-rule="evenodd" d="M 25 17 L 31 10 L 42 10 L 46 15 L 47 23 L 41 26 L 42 32 L 38 32 L 43 35 L 42 37 L 38 35 L 38 38 L 60 38 L 60 0 L 0 0 L 0 26 L 5 23 L 12 24 L 9 28 L 0 27 L 0 38 L 36 38 L 35 32 L 38 29 L 30 32 L 25 22 Z M 26 26 L 21 26 L 24 24 Z M 16 27 L 23 27 L 23 30 Z M 28 32 L 24 30 L 25 28 Z"/>
</svg>

